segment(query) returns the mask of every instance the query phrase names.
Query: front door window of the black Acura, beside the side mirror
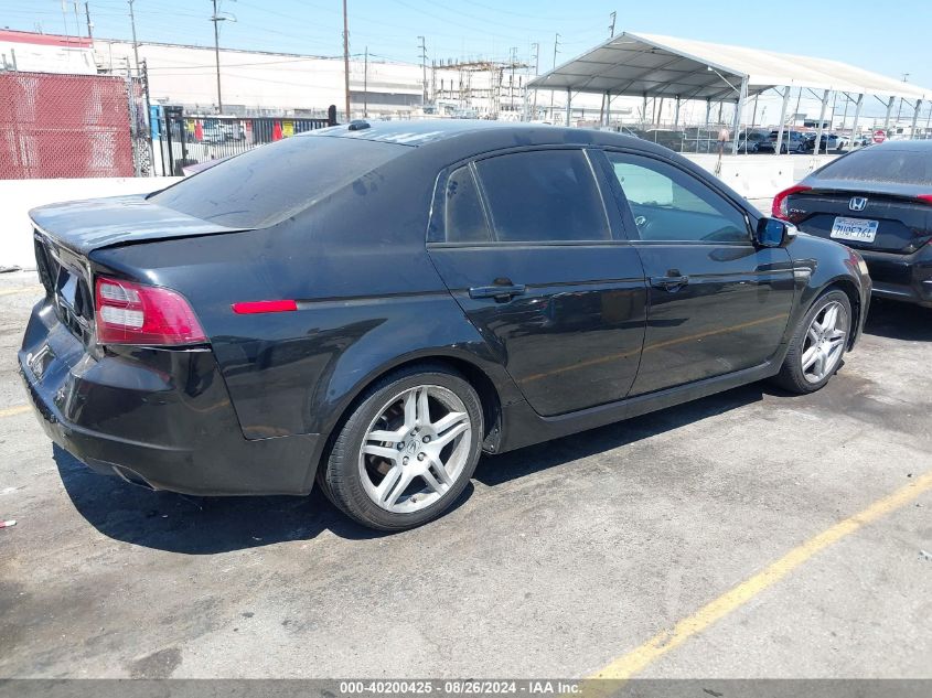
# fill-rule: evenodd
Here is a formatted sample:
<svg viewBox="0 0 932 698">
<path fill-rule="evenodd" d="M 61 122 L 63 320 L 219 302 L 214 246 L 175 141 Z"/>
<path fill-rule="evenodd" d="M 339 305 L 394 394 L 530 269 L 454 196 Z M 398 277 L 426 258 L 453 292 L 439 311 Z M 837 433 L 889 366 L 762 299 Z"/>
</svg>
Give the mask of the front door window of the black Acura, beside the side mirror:
<svg viewBox="0 0 932 698">
<path fill-rule="evenodd" d="M 642 240 L 749 243 L 744 216 L 682 170 L 651 158 L 607 152 Z"/>
</svg>

